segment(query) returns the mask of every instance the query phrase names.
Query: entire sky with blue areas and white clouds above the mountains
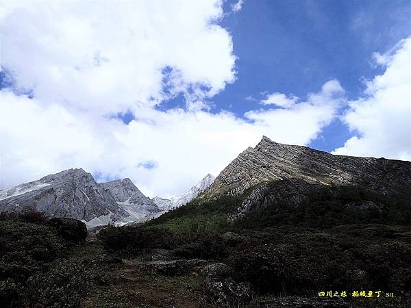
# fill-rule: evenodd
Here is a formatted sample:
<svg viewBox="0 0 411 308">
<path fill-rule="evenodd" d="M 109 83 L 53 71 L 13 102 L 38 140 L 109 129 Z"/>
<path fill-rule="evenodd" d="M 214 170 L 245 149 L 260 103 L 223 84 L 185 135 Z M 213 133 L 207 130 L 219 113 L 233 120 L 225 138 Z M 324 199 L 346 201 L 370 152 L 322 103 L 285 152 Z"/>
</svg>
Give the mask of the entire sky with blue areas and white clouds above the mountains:
<svg viewBox="0 0 411 308">
<path fill-rule="evenodd" d="M 104 1 L 2 1 L 0 188 L 173 196 L 262 135 L 411 159 L 410 1 Z"/>
</svg>

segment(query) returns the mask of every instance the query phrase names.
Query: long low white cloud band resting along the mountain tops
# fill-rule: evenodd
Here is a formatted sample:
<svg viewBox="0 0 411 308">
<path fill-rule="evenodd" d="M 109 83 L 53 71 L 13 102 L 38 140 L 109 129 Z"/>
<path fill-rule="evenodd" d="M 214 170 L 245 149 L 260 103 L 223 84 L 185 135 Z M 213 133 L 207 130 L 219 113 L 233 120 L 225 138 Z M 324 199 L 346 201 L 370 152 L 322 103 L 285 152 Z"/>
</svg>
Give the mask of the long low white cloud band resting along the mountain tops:
<svg viewBox="0 0 411 308">
<path fill-rule="evenodd" d="M 316 138 L 342 101 L 324 88 L 288 110 L 248 112 L 249 120 L 229 112 L 145 107 L 129 125 L 60 105 L 42 107 L 36 99 L 2 90 L 1 185 L 82 167 L 102 177 L 131 177 L 151 196 L 179 194 L 208 172 L 217 175 L 262 135 L 292 144 Z M 155 168 L 144 168 L 145 162 Z"/>
</svg>

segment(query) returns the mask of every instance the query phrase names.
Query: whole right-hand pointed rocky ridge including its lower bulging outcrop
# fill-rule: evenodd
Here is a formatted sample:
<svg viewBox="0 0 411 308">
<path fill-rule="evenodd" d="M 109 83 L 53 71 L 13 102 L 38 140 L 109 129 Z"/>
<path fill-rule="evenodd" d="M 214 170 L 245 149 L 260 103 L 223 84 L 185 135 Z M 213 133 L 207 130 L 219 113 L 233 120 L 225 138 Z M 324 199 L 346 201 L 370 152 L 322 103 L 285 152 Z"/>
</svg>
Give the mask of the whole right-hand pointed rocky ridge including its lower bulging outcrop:
<svg viewBox="0 0 411 308">
<path fill-rule="evenodd" d="M 240 153 L 199 198 L 241 196 L 236 212 L 229 215 L 236 219 L 274 204 L 299 205 L 310 194 L 334 186 L 359 186 L 382 194 L 411 191 L 411 162 L 332 155 L 263 136 L 255 148 Z"/>
</svg>

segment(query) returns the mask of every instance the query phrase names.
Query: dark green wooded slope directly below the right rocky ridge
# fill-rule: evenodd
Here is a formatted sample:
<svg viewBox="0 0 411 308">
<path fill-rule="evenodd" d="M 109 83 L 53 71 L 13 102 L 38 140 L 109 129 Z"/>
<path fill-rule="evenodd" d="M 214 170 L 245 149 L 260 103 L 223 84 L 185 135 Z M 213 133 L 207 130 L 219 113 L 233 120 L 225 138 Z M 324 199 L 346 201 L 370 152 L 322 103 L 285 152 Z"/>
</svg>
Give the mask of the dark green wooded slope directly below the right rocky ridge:
<svg viewBox="0 0 411 308">
<path fill-rule="evenodd" d="M 382 194 L 358 186 L 326 187 L 295 206 L 278 203 L 251 211 L 239 229 L 278 225 L 330 228 L 340 224 L 410 224 L 411 192 Z M 371 205 L 371 206 L 369 206 Z"/>
</svg>

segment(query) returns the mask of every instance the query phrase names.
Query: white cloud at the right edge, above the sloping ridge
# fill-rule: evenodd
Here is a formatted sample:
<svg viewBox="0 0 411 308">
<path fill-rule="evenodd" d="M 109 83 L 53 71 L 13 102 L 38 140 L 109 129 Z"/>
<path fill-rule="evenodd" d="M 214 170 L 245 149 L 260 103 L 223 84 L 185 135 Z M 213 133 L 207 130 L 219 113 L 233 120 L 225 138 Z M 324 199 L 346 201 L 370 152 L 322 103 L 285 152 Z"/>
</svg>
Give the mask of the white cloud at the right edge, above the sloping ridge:
<svg viewBox="0 0 411 308">
<path fill-rule="evenodd" d="M 411 160 L 411 37 L 375 59 L 386 70 L 349 103 L 343 119 L 356 136 L 334 153 Z"/>
</svg>

